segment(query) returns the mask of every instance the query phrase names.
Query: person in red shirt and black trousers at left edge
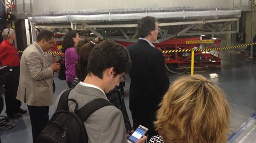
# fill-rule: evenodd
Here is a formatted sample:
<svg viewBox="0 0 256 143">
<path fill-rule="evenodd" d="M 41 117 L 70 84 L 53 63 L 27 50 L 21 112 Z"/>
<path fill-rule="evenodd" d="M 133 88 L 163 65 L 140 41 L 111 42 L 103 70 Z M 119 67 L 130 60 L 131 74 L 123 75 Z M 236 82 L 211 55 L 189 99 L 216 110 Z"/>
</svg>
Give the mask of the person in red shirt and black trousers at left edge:
<svg viewBox="0 0 256 143">
<path fill-rule="evenodd" d="M 20 55 L 13 44 L 15 36 L 12 28 L 4 29 L 2 31 L 3 41 L 0 44 L 1 66 L 10 66 L 10 72 L 5 84 L 5 113 L 7 116 L 14 118 L 20 117 L 18 113 L 27 113 L 27 110 L 20 108 L 21 102 L 16 99 L 20 79 Z"/>
</svg>

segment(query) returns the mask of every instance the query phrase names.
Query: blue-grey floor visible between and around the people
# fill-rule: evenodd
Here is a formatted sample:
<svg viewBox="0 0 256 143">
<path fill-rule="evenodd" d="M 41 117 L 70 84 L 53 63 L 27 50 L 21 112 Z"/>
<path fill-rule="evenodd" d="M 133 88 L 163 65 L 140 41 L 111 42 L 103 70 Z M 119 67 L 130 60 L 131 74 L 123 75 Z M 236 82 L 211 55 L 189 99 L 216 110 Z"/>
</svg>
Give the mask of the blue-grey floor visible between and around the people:
<svg viewBox="0 0 256 143">
<path fill-rule="evenodd" d="M 242 44 L 243 43 L 222 41 L 220 47 Z M 229 135 L 229 138 L 232 138 L 256 112 L 256 60 L 255 58 L 251 59 L 241 54 L 241 49 L 245 49 L 245 47 L 221 50 L 221 67 L 212 67 L 209 68 L 210 70 L 208 72 L 200 73 L 218 84 L 227 94 L 229 103 L 232 106 L 232 124 L 230 124 L 232 135 Z M 184 74 L 177 75 L 168 73 L 170 83 L 183 75 Z M 128 74 L 125 76 L 128 80 L 126 81 L 126 87 L 124 87 L 124 100 L 126 102 L 129 119 L 132 122 L 131 113 L 129 111 L 130 79 Z M 56 84 L 56 92 L 54 94 L 56 99 L 61 91 L 67 89 L 68 86 L 66 85 L 66 81 L 57 78 L 56 73 L 54 74 L 54 81 Z M 27 105 L 22 103 L 21 108 L 27 110 Z M 49 112 L 50 117 L 53 115 L 53 110 L 54 105 L 51 105 Z M 6 115 L 5 109 L 2 111 L 1 115 Z M 2 143 L 32 143 L 29 113 L 23 114 L 20 118 L 11 119 L 11 122 L 15 126 L 13 129 L 9 130 L 7 127 L 0 127 Z M 244 143 L 253 143 L 253 141 L 246 140 Z"/>
</svg>

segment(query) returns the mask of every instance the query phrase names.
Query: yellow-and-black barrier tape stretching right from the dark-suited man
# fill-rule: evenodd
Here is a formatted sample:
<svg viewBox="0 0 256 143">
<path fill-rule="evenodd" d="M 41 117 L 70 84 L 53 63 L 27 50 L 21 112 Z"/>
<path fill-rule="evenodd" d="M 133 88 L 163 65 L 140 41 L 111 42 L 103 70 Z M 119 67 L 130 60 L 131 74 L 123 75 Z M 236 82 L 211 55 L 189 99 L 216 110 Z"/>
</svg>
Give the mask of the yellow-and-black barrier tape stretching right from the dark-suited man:
<svg viewBox="0 0 256 143">
<path fill-rule="evenodd" d="M 256 42 L 245 44 L 245 45 L 238 45 L 238 46 L 232 46 L 232 47 L 222 47 L 222 48 L 210 48 L 210 49 L 194 49 L 194 51 L 212 51 L 212 50 L 221 50 L 221 49 L 233 49 L 233 48 L 239 48 L 239 47 L 245 47 L 250 45 L 255 45 Z M 163 51 L 163 53 L 175 53 L 175 52 L 189 52 L 192 49 L 179 49 L 179 50 L 166 50 Z"/>
</svg>

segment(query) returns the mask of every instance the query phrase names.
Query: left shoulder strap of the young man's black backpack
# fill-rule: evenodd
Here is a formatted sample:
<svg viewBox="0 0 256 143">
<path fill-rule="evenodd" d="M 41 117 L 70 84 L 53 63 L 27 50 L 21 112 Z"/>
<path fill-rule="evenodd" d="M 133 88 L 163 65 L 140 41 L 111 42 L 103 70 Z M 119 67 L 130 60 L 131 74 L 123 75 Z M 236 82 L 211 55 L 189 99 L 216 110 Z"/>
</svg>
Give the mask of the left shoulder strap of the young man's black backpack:
<svg viewBox="0 0 256 143">
<path fill-rule="evenodd" d="M 67 89 L 65 90 L 62 94 L 61 94 L 61 97 L 59 99 L 59 103 L 58 103 L 58 106 L 57 106 L 57 109 L 56 111 L 59 111 L 59 110 L 68 110 L 68 102 L 65 102 L 68 100 L 68 94 L 70 93 L 70 91 L 72 90 L 71 89 Z M 65 105 L 63 105 L 65 104 Z M 65 108 L 63 108 L 65 107 Z"/>
</svg>

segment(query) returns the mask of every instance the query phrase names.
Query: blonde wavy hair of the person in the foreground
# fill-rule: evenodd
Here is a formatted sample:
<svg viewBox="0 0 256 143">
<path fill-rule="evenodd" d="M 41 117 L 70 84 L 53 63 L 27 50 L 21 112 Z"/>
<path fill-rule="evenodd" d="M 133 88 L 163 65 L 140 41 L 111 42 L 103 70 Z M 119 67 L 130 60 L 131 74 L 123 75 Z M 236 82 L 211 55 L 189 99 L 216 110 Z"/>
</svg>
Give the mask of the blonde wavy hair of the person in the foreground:
<svg viewBox="0 0 256 143">
<path fill-rule="evenodd" d="M 173 82 L 159 105 L 154 124 L 165 143 L 227 142 L 230 105 L 224 92 L 202 75 Z"/>
</svg>

